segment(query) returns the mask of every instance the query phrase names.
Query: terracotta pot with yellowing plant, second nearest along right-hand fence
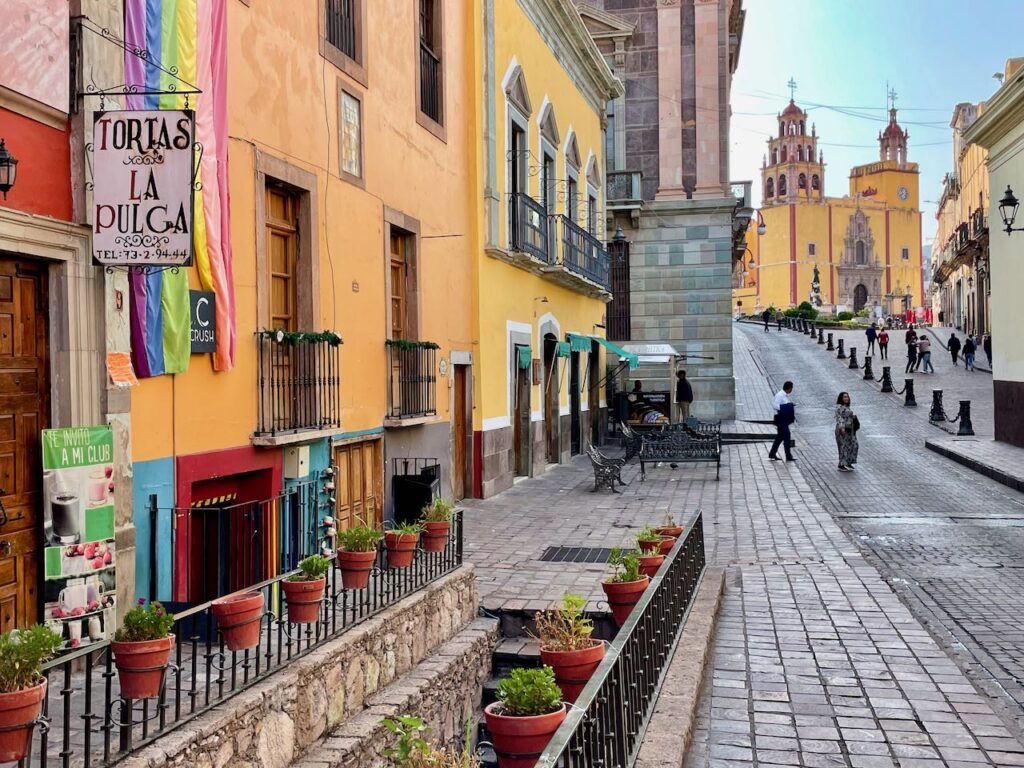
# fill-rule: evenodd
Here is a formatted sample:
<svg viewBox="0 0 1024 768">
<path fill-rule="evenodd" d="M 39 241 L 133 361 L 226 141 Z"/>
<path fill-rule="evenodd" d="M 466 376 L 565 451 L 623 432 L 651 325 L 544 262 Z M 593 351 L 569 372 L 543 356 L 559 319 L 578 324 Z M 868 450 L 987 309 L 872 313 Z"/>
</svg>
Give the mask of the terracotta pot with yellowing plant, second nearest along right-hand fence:
<svg viewBox="0 0 1024 768">
<path fill-rule="evenodd" d="M 604 643 L 591 637 L 594 623 L 587 618 L 587 601 L 564 595 L 562 606 L 539 612 L 534 623 L 541 644 L 541 660 L 555 672 L 562 700 L 572 703 L 604 658 Z"/>
</svg>

